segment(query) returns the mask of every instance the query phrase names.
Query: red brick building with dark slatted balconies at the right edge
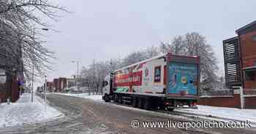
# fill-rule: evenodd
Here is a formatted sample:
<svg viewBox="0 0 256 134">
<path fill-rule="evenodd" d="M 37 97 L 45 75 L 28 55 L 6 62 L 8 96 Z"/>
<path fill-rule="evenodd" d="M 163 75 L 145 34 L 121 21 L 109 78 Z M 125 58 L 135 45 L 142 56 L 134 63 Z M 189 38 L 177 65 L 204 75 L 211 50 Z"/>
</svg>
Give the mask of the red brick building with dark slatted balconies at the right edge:
<svg viewBox="0 0 256 134">
<path fill-rule="evenodd" d="M 256 89 L 256 21 L 236 33 L 223 41 L 226 85 Z"/>
</svg>

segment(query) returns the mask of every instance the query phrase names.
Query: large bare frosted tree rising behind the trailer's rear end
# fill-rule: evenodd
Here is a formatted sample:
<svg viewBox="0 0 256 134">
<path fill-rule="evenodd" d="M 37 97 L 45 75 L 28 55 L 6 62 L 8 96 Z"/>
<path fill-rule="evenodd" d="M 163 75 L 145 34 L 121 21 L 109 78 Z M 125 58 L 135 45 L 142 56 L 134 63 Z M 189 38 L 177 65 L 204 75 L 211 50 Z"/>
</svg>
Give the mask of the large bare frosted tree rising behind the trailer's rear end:
<svg viewBox="0 0 256 134">
<path fill-rule="evenodd" d="M 175 55 L 200 56 L 200 74 L 202 84 L 209 85 L 217 79 L 217 58 L 206 38 L 199 33 L 187 33 L 184 36 L 176 36 L 171 44 L 161 42 L 161 52 L 171 52 Z M 207 79 L 207 80 L 206 80 Z"/>
</svg>

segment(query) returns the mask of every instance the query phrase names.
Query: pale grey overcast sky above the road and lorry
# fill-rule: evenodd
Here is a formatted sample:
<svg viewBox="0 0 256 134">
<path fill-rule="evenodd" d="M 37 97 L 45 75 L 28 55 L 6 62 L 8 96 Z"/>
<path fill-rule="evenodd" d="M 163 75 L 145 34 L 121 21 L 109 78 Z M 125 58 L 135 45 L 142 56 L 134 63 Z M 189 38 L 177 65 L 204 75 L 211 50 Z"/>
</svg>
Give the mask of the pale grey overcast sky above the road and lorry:
<svg viewBox="0 0 256 134">
<path fill-rule="evenodd" d="M 196 31 L 214 47 L 223 67 L 222 40 L 256 20 L 256 1 L 52 0 L 73 13 L 61 14 L 56 30 L 47 32 L 47 47 L 56 52 L 48 79 L 70 77 L 93 59 L 124 58 L 129 52 L 159 46 L 174 36 Z"/>
</svg>

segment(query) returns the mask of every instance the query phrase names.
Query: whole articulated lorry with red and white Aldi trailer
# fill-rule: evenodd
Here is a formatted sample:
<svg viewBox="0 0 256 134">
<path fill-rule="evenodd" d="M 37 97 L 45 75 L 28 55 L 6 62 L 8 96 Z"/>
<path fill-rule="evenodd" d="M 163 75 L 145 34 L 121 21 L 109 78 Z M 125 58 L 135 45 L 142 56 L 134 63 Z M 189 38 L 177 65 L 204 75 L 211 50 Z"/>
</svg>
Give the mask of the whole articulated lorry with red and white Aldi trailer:
<svg viewBox="0 0 256 134">
<path fill-rule="evenodd" d="M 102 99 L 140 109 L 197 109 L 199 57 L 170 53 L 120 68 L 105 77 Z"/>
</svg>

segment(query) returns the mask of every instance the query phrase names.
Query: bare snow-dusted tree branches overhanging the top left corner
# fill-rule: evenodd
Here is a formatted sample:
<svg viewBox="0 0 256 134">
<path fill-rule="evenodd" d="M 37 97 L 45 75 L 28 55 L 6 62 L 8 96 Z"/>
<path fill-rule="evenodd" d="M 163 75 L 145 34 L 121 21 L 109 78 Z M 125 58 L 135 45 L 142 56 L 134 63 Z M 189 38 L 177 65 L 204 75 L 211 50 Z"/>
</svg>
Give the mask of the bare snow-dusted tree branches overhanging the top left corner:
<svg viewBox="0 0 256 134">
<path fill-rule="evenodd" d="M 51 4 L 48 0 L 0 1 L 0 50 L 4 52 L 1 56 L 12 64 L 9 69 L 21 65 L 27 79 L 31 76 L 32 66 L 37 74 L 44 74 L 50 69 L 53 52 L 42 46 L 44 42 L 40 40 L 42 34 L 39 29 L 50 29 L 41 16 L 56 20 L 58 10 L 67 12 L 64 7 Z M 20 58 L 20 62 L 15 62 L 14 55 Z"/>
</svg>

